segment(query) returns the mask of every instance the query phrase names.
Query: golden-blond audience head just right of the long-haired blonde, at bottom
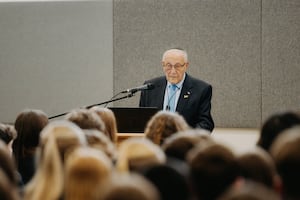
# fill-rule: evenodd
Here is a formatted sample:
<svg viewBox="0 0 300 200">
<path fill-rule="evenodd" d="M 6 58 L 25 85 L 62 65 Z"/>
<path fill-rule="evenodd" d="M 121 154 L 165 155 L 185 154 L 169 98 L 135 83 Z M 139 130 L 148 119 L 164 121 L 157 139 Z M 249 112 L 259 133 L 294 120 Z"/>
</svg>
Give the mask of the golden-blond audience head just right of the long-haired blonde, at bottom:
<svg viewBox="0 0 300 200">
<path fill-rule="evenodd" d="M 65 164 L 64 200 L 98 200 L 111 171 L 112 162 L 102 151 L 75 149 Z"/>
</svg>

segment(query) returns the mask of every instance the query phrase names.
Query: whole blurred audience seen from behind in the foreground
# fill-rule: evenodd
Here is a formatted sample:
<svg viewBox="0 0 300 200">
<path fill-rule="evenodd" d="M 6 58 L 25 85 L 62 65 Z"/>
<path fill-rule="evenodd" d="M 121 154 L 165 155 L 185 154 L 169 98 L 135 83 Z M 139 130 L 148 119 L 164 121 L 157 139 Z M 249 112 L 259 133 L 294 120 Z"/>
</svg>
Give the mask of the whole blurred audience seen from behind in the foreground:
<svg viewBox="0 0 300 200">
<path fill-rule="evenodd" d="M 157 112 L 144 137 L 118 143 L 108 108 L 48 120 L 24 110 L 0 124 L 2 200 L 300 199 L 300 116 L 270 116 L 257 145 L 235 152 L 178 113 Z"/>
</svg>

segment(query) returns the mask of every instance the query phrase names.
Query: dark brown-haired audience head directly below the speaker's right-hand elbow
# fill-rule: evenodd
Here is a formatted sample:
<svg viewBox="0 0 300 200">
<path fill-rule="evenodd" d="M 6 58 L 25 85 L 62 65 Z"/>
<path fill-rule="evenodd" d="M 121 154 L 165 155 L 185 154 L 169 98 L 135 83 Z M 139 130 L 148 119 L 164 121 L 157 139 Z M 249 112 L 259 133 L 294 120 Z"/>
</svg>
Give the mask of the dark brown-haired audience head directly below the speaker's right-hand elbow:
<svg viewBox="0 0 300 200">
<path fill-rule="evenodd" d="M 222 144 L 196 146 L 188 153 L 187 160 L 195 199 L 216 199 L 238 177 L 236 157 Z"/>
</svg>

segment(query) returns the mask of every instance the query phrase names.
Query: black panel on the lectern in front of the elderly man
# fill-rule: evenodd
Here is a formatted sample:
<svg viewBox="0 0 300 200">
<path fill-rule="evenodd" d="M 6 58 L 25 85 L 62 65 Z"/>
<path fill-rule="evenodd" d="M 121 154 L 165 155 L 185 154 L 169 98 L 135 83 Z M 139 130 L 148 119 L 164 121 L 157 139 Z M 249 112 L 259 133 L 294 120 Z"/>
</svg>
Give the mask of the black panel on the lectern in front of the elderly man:
<svg viewBox="0 0 300 200">
<path fill-rule="evenodd" d="M 147 122 L 159 110 L 155 107 L 110 107 L 119 133 L 143 133 Z"/>
</svg>

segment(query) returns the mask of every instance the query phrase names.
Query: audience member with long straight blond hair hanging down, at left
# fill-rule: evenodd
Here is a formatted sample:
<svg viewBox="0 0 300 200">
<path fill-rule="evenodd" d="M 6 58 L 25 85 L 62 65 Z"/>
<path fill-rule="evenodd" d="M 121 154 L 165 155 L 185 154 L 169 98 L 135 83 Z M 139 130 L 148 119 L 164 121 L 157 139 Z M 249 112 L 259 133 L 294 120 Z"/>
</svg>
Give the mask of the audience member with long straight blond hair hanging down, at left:
<svg viewBox="0 0 300 200">
<path fill-rule="evenodd" d="M 61 198 L 66 156 L 73 149 L 86 145 L 83 131 L 74 123 L 50 122 L 41 132 L 37 171 L 25 187 L 24 200 Z"/>
</svg>

